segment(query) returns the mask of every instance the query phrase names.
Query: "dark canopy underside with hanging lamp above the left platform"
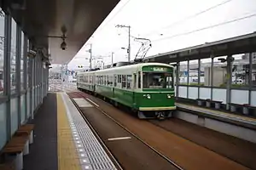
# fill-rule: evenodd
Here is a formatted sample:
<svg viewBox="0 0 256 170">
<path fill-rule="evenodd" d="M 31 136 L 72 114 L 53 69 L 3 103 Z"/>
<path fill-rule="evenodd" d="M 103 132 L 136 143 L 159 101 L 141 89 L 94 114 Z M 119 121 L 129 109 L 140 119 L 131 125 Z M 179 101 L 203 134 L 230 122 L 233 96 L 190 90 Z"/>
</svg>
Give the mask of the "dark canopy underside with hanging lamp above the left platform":
<svg viewBox="0 0 256 170">
<path fill-rule="evenodd" d="M 64 64 L 83 47 L 119 0 L 1 1 L 35 48 L 44 48 L 51 64 Z M 0 2 L 0 3 L 1 3 Z M 67 30 L 67 49 L 61 49 L 61 27 Z M 53 36 L 53 37 L 51 37 Z"/>
</svg>

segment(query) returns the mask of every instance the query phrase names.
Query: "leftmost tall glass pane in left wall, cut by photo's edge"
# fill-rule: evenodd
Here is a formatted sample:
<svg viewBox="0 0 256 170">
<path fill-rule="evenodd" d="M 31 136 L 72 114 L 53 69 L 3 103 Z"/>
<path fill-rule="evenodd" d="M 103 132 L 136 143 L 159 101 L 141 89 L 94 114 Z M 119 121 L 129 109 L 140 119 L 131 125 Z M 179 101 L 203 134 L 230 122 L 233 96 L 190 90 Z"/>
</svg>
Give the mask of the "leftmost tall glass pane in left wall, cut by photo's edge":
<svg viewBox="0 0 256 170">
<path fill-rule="evenodd" d="M 4 78 L 4 13 L 0 8 L 0 95 L 3 94 Z"/>
</svg>

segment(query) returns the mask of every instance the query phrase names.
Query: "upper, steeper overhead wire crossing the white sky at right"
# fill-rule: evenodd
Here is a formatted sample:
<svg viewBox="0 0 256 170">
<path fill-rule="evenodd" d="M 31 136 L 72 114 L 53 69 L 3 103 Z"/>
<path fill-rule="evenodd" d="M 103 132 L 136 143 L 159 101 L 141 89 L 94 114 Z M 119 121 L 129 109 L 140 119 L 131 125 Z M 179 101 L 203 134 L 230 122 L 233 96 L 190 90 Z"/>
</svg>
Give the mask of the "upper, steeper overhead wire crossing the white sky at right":
<svg viewBox="0 0 256 170">
<path fill-rule="evenodd" d="M 167 29 L 167 28 L 171 28 L 172 26 L 177 26 L 178 24 L 181 24 L 181 23 L 183 23 L 183 22 L 186 21 L 186 20 L 190 20 L 190 19 L 195 18 L 196 16 L 198 16 L 198 15 L 200 15 L 200 14 L 207 13 L 208 11 L 210 11 L 210 10 L 212 10 L 212 9 L 214 9 L 214 8 L 218 8 L 218 7 L 222 6 L 222 5 L 224 5 L 225 3 L 230 3 L 231 1 L 233 1 L 233 0 L 226 0 L 226 1 L 222 2 L 222 3 L 218 3 L 218 4 L 216 4 L 216 5 L 214 5 L 214 6 L 210 7 L 210 8 L 207 8 L 207 9 L 205 9 L 205 10 L 202 10 L 202 11 L 199 12 L 199 13 L 192 14 L 192 15 L 190 15 L 190 16 L 188 16 L 188 17 L 183 18 L 182 20 L 177 20 L 176 22 L 172 23 L 171 25 L 165 26 L 165 27 L 160 28 L 160 29 L 164 30 L 164 29 Z M 159 29 L 158 29 L 158 30 L 159 30 Z M 146 34 L 144 34 L 143 36 L 145 37 L 145 36 L 148 36 L 148 35 L 152 35 L 152 34 L 154 34 L 156 31 L 157 31 L 157 30 L 150 31 L 149 33 L 146 33 Z"/>
</svg>

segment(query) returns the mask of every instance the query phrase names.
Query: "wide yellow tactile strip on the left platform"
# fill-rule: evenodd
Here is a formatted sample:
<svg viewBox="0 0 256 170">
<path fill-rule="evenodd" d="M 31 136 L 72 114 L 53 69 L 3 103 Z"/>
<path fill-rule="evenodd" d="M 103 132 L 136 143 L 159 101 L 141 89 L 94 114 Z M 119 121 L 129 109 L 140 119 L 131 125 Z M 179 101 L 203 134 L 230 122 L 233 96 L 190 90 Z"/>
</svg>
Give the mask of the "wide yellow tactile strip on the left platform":
<svg viewBox="0 0 256 170">
<path fill-rule="evenodd" d="M 79 156 L 73 143 L 65 105 L 61 94 L 57 94 L 58 169 L 79 170 Z"/>
</svg>

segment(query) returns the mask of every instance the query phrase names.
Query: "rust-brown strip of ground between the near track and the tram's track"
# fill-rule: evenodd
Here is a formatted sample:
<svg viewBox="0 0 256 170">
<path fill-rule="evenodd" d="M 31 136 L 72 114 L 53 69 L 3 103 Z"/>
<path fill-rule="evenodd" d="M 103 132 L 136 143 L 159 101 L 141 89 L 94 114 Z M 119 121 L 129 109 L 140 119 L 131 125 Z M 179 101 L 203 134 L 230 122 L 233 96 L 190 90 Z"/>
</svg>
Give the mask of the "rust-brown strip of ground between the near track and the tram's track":
<svg viewBox="0 0 256 170">
<path fill-rule="evenodd" d="M 177 137 L 177 135 L 166 131 L 151 122 L 138 120 L 117 110 L 112 105 L 96 99 L 89 94 L 79 93 L 81 98 L 87 99 L 95 105 L 98 111 L 108 116 L 113 122 L 136 135 L 140 141 L 147 144 L 151 150 L 157 151 L 165 159 L 172 160 L 184 169 L 248 169 L 230 159 L 219 156 L 211 150 L 207 150 L 198 144 Z"/>
</svg>

